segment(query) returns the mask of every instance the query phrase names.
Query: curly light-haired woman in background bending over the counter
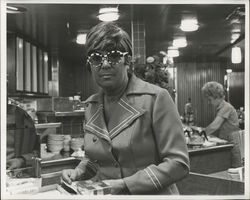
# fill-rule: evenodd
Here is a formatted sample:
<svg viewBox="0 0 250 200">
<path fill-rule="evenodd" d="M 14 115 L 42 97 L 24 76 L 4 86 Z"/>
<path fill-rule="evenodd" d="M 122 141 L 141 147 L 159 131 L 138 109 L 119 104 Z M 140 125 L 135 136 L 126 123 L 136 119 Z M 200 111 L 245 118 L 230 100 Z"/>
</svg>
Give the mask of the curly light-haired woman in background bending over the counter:
<svg viewBox="0 0 250 200">
<path fill-rule="evenodd" d="M 241 156 L 239 148 L 239 128 L 238 115 L 235 108 L 225 101 L 224 88 L 220 83 L 207 82 L 202 87 L 202 93 L 207 98 L 209 104 L 216 108 L 216 117 L 206 128 L 207 135 L 215 135 L 221 139 L 234 144 L 232 149 L 232 167 L 241 166 Z"/>
</svg>

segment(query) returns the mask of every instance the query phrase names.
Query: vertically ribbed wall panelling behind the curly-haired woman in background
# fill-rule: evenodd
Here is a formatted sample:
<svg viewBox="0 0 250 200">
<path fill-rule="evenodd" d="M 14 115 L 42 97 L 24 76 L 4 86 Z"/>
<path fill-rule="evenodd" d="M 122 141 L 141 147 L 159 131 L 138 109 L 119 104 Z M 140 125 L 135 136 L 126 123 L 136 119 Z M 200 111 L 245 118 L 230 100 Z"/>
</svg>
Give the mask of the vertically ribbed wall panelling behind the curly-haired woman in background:
<svg viewBox="0 0 250 200">
<path fill-rule="evenodd" d="M 215 110 L 202 97 L 201 88 L 208 81 L 224 84 L 225 67 L 219 62 L 178 63 L 177 67 L 177 105 L 183 115 L 184 105 L 191 98 L 195 110 L 195 124 L 206 126 L 213 120 Z"/>
</svg>

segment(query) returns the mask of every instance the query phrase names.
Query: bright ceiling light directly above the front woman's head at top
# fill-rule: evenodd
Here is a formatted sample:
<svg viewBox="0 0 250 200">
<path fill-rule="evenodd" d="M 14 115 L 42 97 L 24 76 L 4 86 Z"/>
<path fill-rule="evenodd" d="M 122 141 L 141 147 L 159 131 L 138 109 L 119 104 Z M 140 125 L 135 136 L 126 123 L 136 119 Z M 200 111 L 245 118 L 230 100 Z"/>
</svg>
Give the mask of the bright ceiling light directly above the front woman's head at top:
<svg viewBox="0 0 250 200">
<path fill-rule="evenodd" d="M 118 20 L 119 19 L 118 7 L 100 8 L 98 18 L 99 20 L 104 22 L 111 22 Z"/>
</svg>

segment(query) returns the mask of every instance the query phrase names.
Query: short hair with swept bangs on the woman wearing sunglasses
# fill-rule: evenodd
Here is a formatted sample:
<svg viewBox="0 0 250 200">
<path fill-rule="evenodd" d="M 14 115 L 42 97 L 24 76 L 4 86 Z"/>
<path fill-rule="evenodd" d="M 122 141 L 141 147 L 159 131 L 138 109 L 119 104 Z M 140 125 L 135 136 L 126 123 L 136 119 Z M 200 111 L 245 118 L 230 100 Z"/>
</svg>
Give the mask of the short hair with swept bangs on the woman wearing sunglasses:
<svg viewBox="0 0 250 200">
<path fill-rule="evenodd" d="M 113 22 L 102 22 L 90 29 L 86 39 L 87 55 L 96 50 L 119 50 L 132 55 L 131 39 Z"/>
</svg>

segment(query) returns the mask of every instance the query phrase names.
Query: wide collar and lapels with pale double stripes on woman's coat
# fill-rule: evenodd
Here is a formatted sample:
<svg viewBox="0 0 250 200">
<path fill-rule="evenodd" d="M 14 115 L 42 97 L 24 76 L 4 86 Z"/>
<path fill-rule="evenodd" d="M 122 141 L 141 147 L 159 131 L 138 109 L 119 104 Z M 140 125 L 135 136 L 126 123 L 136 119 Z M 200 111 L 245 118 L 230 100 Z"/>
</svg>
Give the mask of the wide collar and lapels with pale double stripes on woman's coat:
<svg viewBox="0 0 250 200">
<path fill-rule="evenodd" d="M 138 117 L 143 115 L 143 110 L 139 105 L 130 101 L 134 94 L 154 94 L 150 88 L 146 87 L 142 80 L 134 75 L 130 78 L 129 85 L 123 96 L 118 101 L 113 110 L 113 114 L 106 125 L 103 114 L 103 93 L 92 95 L 86 100 L 86 124 L 85 129 L 99 137 L 112 140 L 124 129 L 128 128 Z M 108 128 L 107 128 L 108 127 Z"/>
</svg>

